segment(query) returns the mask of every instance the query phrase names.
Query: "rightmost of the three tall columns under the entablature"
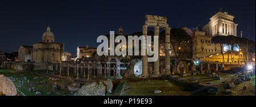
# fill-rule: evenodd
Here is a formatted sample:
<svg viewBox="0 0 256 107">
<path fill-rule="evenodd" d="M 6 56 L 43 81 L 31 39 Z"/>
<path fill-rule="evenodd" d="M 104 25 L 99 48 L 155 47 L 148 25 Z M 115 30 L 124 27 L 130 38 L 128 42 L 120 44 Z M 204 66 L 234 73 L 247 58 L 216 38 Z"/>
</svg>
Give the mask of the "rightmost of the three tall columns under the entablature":
<svg viewBox="0 0 256 107">
<path fill-rule="evenodd" d="M 170 75 L 171 74 L 171 70 L 170 70 L 170 27 L 166 27 L 166 46 L 164 46 L 165 50 L 166 50 L 166 59 L 165 59 L 165 64 L 166 64 L 166 75 Z"/>
</svg>

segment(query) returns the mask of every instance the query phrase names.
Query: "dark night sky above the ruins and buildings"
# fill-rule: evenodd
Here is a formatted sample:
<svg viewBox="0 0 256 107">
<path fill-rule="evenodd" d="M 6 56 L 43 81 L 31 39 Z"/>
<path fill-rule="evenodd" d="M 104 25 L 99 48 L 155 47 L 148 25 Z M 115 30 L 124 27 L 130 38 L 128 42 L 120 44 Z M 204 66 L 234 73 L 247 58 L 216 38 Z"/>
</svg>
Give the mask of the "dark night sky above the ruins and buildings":
<svg viewBox="0 0 256 107">
<path fill-rule="evenodd" d="M 222 7 L 235 16 L 237 36 L 255 41 L 255 0 L 240 1 L 0 1 L 0 51 L 17 52 L 20 45 L 41 42 L 49 24 L 55 42 L 76 53 L 77 46 L 97 47 L 96 38 L 142 32 L 145 15 L 167 17 L 171 28 L 205 25 Z M 150 28 L 148 30 L 153 30 Z M 75 54 L 74 54 L 75 55 Z"/>
</svg>

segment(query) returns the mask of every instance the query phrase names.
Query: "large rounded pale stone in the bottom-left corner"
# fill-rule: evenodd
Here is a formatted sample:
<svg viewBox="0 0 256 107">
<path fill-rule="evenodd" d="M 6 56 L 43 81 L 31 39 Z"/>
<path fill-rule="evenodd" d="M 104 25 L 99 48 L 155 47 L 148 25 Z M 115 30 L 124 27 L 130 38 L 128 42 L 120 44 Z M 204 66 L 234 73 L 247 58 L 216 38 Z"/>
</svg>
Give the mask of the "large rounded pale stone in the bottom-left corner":
<svg viewBox="0 0 256 107">
<path fill-rule="evenodd" d="M 6 78 L 5 76 L 3 76 L 3 74 L 0 74 L 0 96 L 2 94 L 5 96 L 18 95 L 13 82 L 11 82 L 9 78 Z"/>
</svg>

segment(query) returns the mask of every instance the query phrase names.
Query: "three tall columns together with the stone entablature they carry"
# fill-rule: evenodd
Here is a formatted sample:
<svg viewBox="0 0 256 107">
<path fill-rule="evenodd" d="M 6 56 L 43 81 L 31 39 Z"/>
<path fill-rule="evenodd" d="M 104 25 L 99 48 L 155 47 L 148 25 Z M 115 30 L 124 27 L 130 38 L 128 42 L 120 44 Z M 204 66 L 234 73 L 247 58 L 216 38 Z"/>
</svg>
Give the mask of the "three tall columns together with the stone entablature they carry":
<svg viewBox="0 0 256 107">
<path fill-rule="evenodd" d="M 145 24 L 142 27 L 143 36 L 145 36 L 147 42 L 147 28 L 148 27 L 154 27 L 155 36 L 159 36 L 159 28 L 164 28 L 166 30 L 166 46 L 165 46 L 165 69 L 166 69 L 166 75 L 171 74 L 170 72 L 170 27 L 167 24 L 167 18 L 163 16 L 155 16 L 155 15 L 146 15 L 146 21 Z M 159 48 L 159 40 L 158 42 L 158 48 Z M 154 62 L 154 77 L 158 77 L 160 75 L 159 72 L 159 49 L 154 50 L 158 51 L 158 59 Z M 147 52 L 147 49 L 146 49 Z M 148 56 L 143 55 L 142 56 L 142 77 L 146 78 L 148 77 Z"/>
</svg>

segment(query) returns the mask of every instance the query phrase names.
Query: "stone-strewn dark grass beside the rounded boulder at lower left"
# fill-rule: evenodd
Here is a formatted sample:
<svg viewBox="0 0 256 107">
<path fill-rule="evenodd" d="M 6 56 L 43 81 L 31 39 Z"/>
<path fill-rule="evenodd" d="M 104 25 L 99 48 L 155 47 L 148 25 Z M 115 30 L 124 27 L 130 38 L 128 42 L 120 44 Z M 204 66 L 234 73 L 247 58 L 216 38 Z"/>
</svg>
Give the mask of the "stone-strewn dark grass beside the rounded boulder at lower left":
<svg viewBox="0 0 256 107">
<path fill-rule="evenodd" d="M 30 80 L 30 82 L 35 83 L 35 82 L 51 82 L 52 80 L 48 80 L 48 78 L 43 77 L 42 79 L 34 79 L 34 77 L 41 77 L 39 75 L 33 74 L 31 72 L 18 72 L 15 71 L 14 69 L 0 69 L 0 73 L 4 74 L 6 77 L 10 77 L 13 76 L 14 78 L 21 78 L 22 76 L 26 76 L 27 79 Z M 25 81 L 24 81 L 25 82 Z M 19 80 L 17 80 L 16 82 L 13 82 L 15 86 L 20 85 L 19 84 Z M 27 83 L 27 82 L 25 82 Z M 38 85 L 34 85 L 34 86 L 27 86 L 27 85 L 23 85 L 22 87 L 18 88 L 20 91 L 22 91 L 25 95 L 27 96 L 34 96 L 35 92 L 28 92 L 28 88 L 31 87 L 35 87 L 38 88 L 40 92 L 43 93 L 44 96 L 47 96 L 47 92 L 51 92 L 51 96 L 55 96 L 55 95 L 69 95 L 70 92 L 68 91 L 68 89 L 59 89 L 59 91 L 57 92 L 52 92 L 52 85 L 51 84 L 38 84 Z M 19 94 L 20 95 L 20 94 Z"/>
</svg>

